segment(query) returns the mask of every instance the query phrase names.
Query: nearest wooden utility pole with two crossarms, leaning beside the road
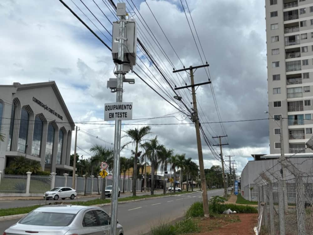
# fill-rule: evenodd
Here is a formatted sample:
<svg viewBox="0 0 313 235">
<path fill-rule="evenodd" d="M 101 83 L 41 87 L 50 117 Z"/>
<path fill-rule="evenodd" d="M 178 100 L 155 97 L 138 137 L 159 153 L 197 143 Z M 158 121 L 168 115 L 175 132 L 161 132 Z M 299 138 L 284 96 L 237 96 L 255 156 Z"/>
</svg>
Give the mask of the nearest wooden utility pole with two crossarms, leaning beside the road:
<svg viewBox="0 0 313 235">
<path fill-rule="evenodd" d="M 192 115 L 192 121 L 195 123 L 195 126 L 196 126 L 200 179 L 201 179 L 201 188 L 202 188 L 203 212 L 204 212 L 204 216 L 207 218 L 209 217 L 209 203 L 208 203 L 208 197 L 207 197 L 207 191 L 206 191 L 206 177 L 204 174 L 204 163 L 203 163 L 203 155 L 202 155 L 201 136 L 200 136 L 200 123 L 199 123 L 199 118 L 198 118 L 195 87 L 200 86 L 200 85 L 204 85 L 204 84 L 210 84 L 211 81 L 195 84 L 193 69 L 204 68 L 204 67 L 208 67 L 208 66 L 209 66 L 209 64 L 195 66 L 195 67 L 190 66 L 187 69 L 184 68 L 184 69 L 179 69 L 179 70 L 173 71 L 173 73 L 177 73 L 177 72 L 181 72 L 181 71 L 187 71 L 187 70 L 190 71 L 191 85 L 186 85 L 183 87 L 177 87 L 177 88 L 175 88 L 175 90 L 191 87 L 192 101 L 193 101 L 192 103 L 193 103 L 193 111 L 194 111 L 193 115 Z"/>
</svg>

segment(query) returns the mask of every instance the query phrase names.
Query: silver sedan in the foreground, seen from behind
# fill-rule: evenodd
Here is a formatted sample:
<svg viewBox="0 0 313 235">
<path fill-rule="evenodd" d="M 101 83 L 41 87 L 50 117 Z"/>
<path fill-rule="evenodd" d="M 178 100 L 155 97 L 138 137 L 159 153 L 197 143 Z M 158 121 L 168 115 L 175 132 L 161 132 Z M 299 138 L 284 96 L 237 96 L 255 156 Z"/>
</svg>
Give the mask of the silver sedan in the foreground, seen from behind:
<svg viewBox="0 0 313 235">
<path fill-rule="evenodd" d="M 110 235 L 110 220 L 100 207 L 44 206 L 30 212 L 3 235 Z M 124 234 L 119 223 L 117 234 Z"/>
</svg>

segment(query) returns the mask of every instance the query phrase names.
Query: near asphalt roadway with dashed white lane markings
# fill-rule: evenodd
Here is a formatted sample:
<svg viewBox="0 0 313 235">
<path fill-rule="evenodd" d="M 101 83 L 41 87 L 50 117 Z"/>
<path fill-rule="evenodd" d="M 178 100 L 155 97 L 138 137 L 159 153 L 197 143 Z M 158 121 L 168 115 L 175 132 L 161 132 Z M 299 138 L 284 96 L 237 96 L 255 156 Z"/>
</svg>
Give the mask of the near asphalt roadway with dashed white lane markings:
<svg viewBox="0 0 313 235">
<path fill-rule="evenodd" d="M 208 191 L 208 198 L 221 196 L 223 189 Z M 129 202 L 118 205 L 118 221 L 123 225 L 125 235 L 146 233 L 151 226 L 183 217 L 194 202 L 201 201 L 201 192 L 180 194 L 170 197 Z M 110 212 L 110 207 L 103 207 Z M 0 234 L 19 219 L 0 221 Z"/>
</svg>

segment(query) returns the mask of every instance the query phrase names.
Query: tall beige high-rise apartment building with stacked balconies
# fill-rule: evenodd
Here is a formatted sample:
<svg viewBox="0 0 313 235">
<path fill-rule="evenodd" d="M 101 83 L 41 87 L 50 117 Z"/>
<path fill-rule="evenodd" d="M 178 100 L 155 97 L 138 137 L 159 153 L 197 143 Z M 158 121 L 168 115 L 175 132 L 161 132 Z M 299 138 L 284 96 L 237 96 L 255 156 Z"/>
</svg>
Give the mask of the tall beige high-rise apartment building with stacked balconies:
<svg viewBox="0 0 313 235">
<path fill-rule="evenodd" d="M 270 153 L 305 150 L 313 128 L 313 0 L 266 0 Z M 305 150 L 305 151 L 304 151 Z"/>
</svg>

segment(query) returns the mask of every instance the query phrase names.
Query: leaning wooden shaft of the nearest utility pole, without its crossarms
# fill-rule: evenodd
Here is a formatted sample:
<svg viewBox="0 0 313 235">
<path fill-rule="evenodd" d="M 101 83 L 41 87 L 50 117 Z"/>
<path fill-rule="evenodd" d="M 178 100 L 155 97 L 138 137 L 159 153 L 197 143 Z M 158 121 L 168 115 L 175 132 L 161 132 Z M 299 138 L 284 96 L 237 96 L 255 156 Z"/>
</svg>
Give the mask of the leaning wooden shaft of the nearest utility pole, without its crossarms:
<svg viewBox="0 0 313 235">
<path fill-rule="evenodd" d="M 195 81 L 193 78 L 192 66 L 190 66 L 190 79 L 191 79 L 191 85 L 194 85 Z M 191 91 L 192 91 L 192 103 L 193 103 L 193 109 L 194 109 L 193 119 L 194 119 L 194 122 L 196 125 L 199 168 L 200 168 L 201 187 L 202 187 L 203 211 L 204 211 L 204 217 L 208 218 L 209 217 L 209 203 L 208 203 L 208 196 L 207 196 L 207 191 L 206 191 L 206 176 L 204 174 L 204 164 L 203 164 L 201 136 L 200 136 L 200 125 L 199 125 L 198 109 L 197 109 L 197 101 L 196 101 L 196 90 L 195 90 L 194 86 L 191 87 Z"/>
</svg>

